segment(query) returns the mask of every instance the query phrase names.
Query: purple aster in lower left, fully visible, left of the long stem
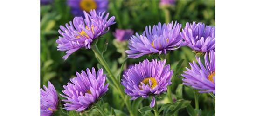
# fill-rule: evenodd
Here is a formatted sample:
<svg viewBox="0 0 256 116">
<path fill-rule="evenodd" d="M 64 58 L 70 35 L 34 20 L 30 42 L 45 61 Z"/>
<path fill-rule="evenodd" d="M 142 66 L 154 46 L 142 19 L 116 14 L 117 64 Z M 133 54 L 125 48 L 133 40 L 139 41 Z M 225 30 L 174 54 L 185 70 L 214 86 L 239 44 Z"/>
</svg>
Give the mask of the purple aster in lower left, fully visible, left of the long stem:
<svg viewBox="0 0 256 116">
<path fill-rule="evenodd" d="M 60 95 L 67 98 L 67 100 L 62 100 L 66 102 L 64 104 L 66 107 L 63 109 L 83 111 L 90 108 L 99 97 L 106 93 L 109 84 L 104 85 L 106 75 L 103 75 L 103 69 L 98 70 L 97 75 L 94 68 L 91 71 L 87 68 L 87 73 L 85 71 L 82 71 L 82 74 L 76 72 L 77 77 L 70 79 L 73 84 L 68 83 L 67 86 L 63 86 L 65 90 L 62 92 L 66 96 Z"/>
</svg>

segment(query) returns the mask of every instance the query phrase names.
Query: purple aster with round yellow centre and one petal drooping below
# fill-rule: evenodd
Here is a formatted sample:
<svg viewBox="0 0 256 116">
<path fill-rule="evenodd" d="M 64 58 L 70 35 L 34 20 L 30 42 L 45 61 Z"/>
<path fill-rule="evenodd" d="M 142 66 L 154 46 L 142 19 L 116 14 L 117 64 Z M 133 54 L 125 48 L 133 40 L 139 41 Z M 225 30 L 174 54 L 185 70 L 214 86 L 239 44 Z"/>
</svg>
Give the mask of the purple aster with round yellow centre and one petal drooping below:
<svg viewBox="0 0 256 116">
<path fill-rule="evenodd" d="M 153 96 L 150 107 L 155 105 L 155 96 L 166 92 L 167 86 L 172 84 L 171 77 L 173 70 L 170 71 L 170 65 L 166 65 L 166 60 L 149 62 L 145 59 L 142 63 L 135 64 L 123 75 L 121 84 L 125 86 L 125 93 L 132 96 L 130 100 L 138 97 L 147 98 Z"/>
</svg>

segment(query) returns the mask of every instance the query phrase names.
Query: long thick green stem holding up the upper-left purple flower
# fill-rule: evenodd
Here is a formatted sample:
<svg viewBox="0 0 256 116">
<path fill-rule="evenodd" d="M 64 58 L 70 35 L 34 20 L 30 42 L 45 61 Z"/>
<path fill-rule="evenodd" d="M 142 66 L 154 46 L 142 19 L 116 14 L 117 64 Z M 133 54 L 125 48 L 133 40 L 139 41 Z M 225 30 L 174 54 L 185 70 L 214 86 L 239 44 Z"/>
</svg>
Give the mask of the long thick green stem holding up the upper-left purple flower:
<svg viewBox="0 0 256 116">
<path fill-rule="evenodd" d="M 98 58 L 99 62 L 104 66 L 105 70 L 108 72 L 111 80 L 113 81 L 115 87 L 117 88 L 120 96 L 122 97 L 122 99 L 124 99 L 125 105 L 128 109 L 128 111 L 130 112 L 130 115 L 133 116 L 132 111 L 131 111 L 131 106 L 130 103 L 128 103 L 127 100 L 125 100 L 125 93 L 124 90 L 122 90 L 120 84 L 118 83 L 118 80 L 115 78 L 114 74 L 112 73 L 109 65 L 107 64 L 107 62 L 105 61 L 105 59 L 103 58 L 103 56 L 101 55 L 101 52 L 99 51 L 97 44 L 95 45 L 91 45 L 91 49 L 92 51 L 95 53 L 95 56 Z"/>
</svg>

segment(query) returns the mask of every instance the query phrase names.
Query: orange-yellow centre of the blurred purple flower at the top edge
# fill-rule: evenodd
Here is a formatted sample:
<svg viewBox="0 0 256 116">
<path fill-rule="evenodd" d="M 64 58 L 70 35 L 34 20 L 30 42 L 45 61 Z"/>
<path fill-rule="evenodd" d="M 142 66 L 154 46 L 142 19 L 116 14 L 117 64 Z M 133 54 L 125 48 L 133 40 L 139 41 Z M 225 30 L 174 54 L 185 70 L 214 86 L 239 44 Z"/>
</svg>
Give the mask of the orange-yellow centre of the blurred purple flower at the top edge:
<svg viewBox="0 0 256 116">
<path fill-rule="evenodd" d="M 97 9 L 97 4 L 94 0 L 81 0 L 80 8 L 88 13 L 92 9 Z"/>
</svg>

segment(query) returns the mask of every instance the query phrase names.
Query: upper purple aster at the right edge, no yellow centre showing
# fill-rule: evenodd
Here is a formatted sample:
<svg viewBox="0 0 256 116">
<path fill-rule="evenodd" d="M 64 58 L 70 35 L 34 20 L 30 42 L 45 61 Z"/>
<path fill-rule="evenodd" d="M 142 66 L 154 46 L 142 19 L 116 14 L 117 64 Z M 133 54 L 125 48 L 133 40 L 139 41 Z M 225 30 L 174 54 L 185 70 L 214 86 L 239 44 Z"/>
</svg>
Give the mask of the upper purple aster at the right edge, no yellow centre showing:
<svg viewBox="0 0 256 116">
<path fill-rule="evenodd" d="M 205 26 L 203 23 L 190 24 L 187 22 L 186 27 L 180 33 L 185 40 L 185 45 L 194 51 L 209 52 L 214 49 L 214 27 Z"/>
</svg>

